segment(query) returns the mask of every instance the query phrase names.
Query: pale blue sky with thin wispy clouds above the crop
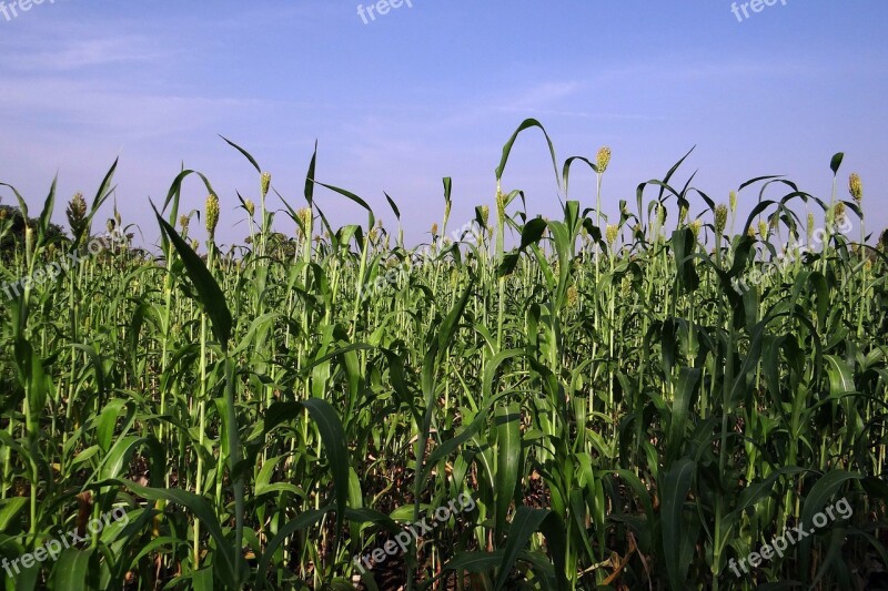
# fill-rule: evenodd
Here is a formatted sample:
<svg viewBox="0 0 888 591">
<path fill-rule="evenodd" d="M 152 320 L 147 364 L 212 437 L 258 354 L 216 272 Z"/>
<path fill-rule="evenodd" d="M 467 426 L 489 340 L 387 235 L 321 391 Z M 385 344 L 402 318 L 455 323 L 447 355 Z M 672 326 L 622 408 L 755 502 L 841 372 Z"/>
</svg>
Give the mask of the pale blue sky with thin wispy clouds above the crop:
<svg viewBox="0 0 888 591">
<path fill-rule="evenodd" d="M 119 155 L 119 207 L 153 243 L 149 197 L 162 202 L 184 163 L 222 200 L 219 238 L 241 242 L 235 191 L 255 198 L 258 179 L 218 134 L 252 152 L 295 207 L 317 140 L 317 180 L 360 194 L 392 227 L 386 191 L 417 242 L 442 217 L 443 176 L 455 226 L 493 202 L 503 143 L 536 118 L 559 161 L 612 147 L 606 213 L 694 145 L 685 172 L 699 170 L 695 186 L 722 202 L 764 174 L 828 198 L 829 159 L 844 151 L 840 195 L 859 172 L 867 230 L 888 226 L 888 3 L 778 0 L 738 22 L 725 0 L 412 0 L 366 24 L 360 3 L 46 0 L 0 14 L 0 181 L 32 208 L 57 172 L 61 202 L 91 197 Z M 557 215 L 542 135 L 513 154 L 504 186 Z M 587 172 L 569 196 L 594 203 Z M 186 185 L 183 208 L 204 197 Z M 741 194 L 741 208 L 756 197 Z M 366 220 L 330 192 L 317 202 L 336 225 Z"/>
</svg>

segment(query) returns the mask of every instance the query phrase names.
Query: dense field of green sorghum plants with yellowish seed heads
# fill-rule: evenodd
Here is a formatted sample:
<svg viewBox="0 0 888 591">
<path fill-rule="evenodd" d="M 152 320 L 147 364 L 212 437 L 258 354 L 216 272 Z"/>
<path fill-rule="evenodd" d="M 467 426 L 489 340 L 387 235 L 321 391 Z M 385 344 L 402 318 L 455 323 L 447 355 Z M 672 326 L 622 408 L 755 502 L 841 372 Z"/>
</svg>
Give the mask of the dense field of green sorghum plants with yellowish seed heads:
<svg viewBox="0 0 888 591">
<path fill-rule="evenodd" d="M 31 278 L 0 294 L 6 588 L 882 589 L 888 261 L 859 177 L 837 154 L 823 191 L 717 198 L 683 159 L 605 216 L 609 150 L 549 142 L 544 220 L 504 184 L 543 133 L 474 220 L 445 179 L 420 246 L 394 201 L 314 159 L 287 195 L 234 144 L 252 194 L 182 172 L 153 251 L 94 215 L 113 167 L 27 227 L 3 185 L 2 281 Z M 331 227 L 349 200 L 366 218 Z"/>
</svg>

